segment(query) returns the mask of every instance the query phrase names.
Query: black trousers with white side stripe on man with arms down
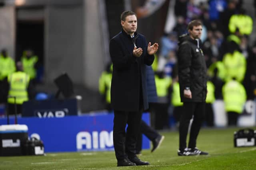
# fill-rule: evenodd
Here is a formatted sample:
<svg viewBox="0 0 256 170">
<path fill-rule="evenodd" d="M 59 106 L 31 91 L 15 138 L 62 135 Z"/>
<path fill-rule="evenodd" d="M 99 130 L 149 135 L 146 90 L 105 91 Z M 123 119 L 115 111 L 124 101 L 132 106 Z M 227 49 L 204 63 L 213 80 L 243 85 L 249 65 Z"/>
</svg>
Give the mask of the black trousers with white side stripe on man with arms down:
<svg viewBox="0 0 256 170">
<path fill-rule="evenodd" d="M 184 102 L 183 111 L 180 117 L 180 150 L 186 148 L 186 139 L 188 135 L 188 126 L 190 119 L 193 117 L 193 122 L 190 129 L 190 137 L 188 148 L 196 147 L 196 139 L 204 119 L 205 102 Z"/>
</svg>

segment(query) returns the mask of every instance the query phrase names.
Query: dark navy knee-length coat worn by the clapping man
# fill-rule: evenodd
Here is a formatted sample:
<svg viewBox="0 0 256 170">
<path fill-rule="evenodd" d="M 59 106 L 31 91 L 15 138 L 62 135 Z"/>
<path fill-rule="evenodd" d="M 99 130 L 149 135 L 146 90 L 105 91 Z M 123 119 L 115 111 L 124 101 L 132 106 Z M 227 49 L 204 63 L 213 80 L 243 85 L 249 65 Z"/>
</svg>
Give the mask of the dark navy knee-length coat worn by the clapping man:
<svg viewBox="0 0 256 170">
<path fill-rule="evenodd" d="M 118 111 L 139 111 L 140 90 L 144 109 L 148 109 L 146 65 L 153 63 L 154 55 L 148 55 L 148 44 L 143 35 L 135 32 L 134 37 L 137 49 L 143 50 L 140 57 L 132 54 L 133 40 L 123 29 L 110 40 L 110 57 L 113 63 L 111 105 Z"/>
</svg>

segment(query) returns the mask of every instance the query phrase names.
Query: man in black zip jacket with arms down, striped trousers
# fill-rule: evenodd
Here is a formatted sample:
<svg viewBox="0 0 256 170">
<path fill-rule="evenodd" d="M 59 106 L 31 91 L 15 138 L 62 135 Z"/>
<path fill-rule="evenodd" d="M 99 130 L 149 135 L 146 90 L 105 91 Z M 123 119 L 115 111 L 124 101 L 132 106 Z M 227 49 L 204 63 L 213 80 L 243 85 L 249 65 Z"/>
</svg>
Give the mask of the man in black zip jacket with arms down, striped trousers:
<svg viewBox="0 0 256 170">
<path fill-rule="evenodd" d="M 188 24 L 188 35 L 179 37 L 178 74 L 180 83 L 180 98 L 183 111 L 180 117 L 179 156 L 208 154 L 196 148 L 196 139 L 200 131 L 205 111 L 206 99 L 206 63 L 201 49 L 202 23 L 193 20 Z M 188 148 L 186 137 L 190 119 L 193 122 L 190 129 Z"/>
</svg>

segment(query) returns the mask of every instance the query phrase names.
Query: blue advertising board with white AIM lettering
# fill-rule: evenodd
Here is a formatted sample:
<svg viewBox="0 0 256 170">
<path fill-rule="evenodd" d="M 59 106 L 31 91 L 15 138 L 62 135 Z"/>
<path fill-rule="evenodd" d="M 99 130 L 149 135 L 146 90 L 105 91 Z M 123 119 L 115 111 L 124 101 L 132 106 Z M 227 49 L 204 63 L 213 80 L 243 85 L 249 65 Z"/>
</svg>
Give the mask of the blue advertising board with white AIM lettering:
<svg viewBox="0 0 256 170">
<path fill-rule="evenodd" d="M 18 117 L 19 124 L 28 126 L 28 135 L 40 137 L 45 152 L 105 151 L 113 147 L 114 114 L 95 113 L 66 117 Z M 142 119 L 149 123 L 149 114 Z M 7 119 L 0 118 L 0 125 Z M 14 117 L 10 118 L 10 124 Z M 150 148 L 150 141 L 143 136 L 142 149 Z"/>
</svg>

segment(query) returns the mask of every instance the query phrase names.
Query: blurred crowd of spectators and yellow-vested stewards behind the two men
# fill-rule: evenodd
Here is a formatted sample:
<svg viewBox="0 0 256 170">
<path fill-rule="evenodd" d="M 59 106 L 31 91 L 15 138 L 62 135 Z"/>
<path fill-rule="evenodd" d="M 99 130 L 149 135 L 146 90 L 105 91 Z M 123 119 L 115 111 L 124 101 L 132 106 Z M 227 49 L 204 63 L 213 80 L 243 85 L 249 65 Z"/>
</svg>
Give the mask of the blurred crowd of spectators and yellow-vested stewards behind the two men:
<svg viewBox="0 0 256 170">
<path fill-rule="evenodd" d="M 256 40 L 250 36 L 254 16 L 249 16 L 242 7 L 243 0 L 176 0 L 176 25 L 162 36 L 160 51 L 152 65 L 158 96 L 158 103 L 151 110 L 154 128 L 170 128 L 179 121 L 182 103 L 176 64 L 178 37 L 187 33 L 187 24 L 195 19 L 203 23 L 201 40 L 208 68 L 204 124 L 214 126 L 212 104 L 215 100 L 223 100 L 228 125 L 237 125 L 245 102 L 256 96 Z M 249 41 L 254 41 L 252 46 Z M 108 75 L 108 87 L 104 87 L 104 74 Z M 108 109 L 110 94 L 106 92 L 110 90 L 110 83 L 108 65 L 100 78 L 100 93 L 106 97 Z"/>
</svg>

